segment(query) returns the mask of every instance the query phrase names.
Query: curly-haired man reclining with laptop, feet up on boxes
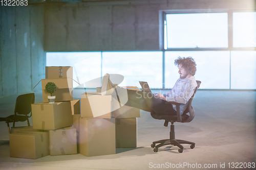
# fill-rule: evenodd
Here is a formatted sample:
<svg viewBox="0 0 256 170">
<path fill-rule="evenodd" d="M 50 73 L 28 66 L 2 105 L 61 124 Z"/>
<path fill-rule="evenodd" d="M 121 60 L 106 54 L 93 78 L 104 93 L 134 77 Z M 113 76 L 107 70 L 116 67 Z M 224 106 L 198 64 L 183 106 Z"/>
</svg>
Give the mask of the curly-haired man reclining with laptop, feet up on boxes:
<svg viewBox="0 0 256 170">
<path fill-rule="evenodd" d="M 193 95 L 197 82 L 194 77 L 196 74 L 196 62 L 191 57 L 179 57 L 175 60 L 175 65 L 178 65 L 180 78 L 175 83 L 172 90 L 166 94 L 152 94 L 145 91 L 136 91 L 121 88 L 114 85 L 110 79 L 109 74 L 104 75 L 102 80 L 102 95 L 112 95 L 121 104 L 139 108 L 144 111 L 152 112 L 162 115 L 176 115 L 176 106 L 166 104 L 167 102 L 182 103 L 180 105 L 181 114 L 187 107 L 187 102 Z M 116 94 L 117 92 L 117 94 Z"/>
</svg>

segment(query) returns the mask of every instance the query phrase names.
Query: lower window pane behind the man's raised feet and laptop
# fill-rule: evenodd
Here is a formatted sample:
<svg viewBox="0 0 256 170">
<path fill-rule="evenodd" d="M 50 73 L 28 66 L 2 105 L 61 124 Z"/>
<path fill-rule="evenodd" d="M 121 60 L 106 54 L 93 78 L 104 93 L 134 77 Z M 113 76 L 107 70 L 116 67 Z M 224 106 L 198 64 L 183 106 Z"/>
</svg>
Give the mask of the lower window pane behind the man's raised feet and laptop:
<svg viewBox="0 0 256 170">
<path fill-rule="evenodd" d="M 139 81 L 146 81 L 151 88 L 162 88 L 162 63 L 162 52 L 103 52 L 102 75 L 124 76 L 120 86 L 141 87 Z"/>
</svg>

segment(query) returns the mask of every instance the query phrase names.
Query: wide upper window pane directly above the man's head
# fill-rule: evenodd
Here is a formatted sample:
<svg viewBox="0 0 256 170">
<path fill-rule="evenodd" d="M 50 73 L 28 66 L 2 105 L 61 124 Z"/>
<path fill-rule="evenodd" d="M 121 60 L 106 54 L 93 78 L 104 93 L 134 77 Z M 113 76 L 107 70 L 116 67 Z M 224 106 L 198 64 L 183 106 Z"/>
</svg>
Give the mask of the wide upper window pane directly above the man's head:
<svg viewBox="0 0 256 170">
<path fill-rule="evenodd" d="M 228 47 L 227 13 L 166 14 L 167 48 Z"/>
</svg>

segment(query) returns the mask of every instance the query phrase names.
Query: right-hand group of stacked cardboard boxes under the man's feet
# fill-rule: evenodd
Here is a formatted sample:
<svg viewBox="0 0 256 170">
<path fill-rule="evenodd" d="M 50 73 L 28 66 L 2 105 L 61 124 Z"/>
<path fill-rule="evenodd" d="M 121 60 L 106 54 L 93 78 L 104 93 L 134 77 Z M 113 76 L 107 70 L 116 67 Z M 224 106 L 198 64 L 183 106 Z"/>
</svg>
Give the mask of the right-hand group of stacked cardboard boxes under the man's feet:
<svg viewBox="0 0 256 170">
<path fill-rule="evenodd" d="M 74 118 L 74 125 L 79 127 L 79 153 L 96 156 L 115 154 L 116 148 L 136 148 L 137 117 L 140 109 L 121 105 L 111 95 L 101 95 L 101 88 L 81 94 L 81 114 Z"/>
</svg>

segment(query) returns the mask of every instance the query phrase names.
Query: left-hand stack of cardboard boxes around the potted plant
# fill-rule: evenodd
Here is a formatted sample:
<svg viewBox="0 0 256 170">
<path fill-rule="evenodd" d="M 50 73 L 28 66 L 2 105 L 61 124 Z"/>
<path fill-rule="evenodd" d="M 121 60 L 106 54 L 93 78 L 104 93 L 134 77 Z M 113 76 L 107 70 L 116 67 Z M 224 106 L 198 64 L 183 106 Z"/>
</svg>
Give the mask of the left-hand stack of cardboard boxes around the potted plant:
<svg viewBox="0 0 256 170">
<path fill-rule="evenodd" d="M 80 100 L 73 100 L 73 68 L 46 67 L 46 79 L 41 80 L 42 103 L 32 104 L 31 127 L 12 129 L 10 156 L 37 159 L 47 155 L 77 153 L 76 129 L 72 114 L 80 114 Z M 56 84 L 55 103 L 49 104 L 45 86 Z"/>
</svg>

